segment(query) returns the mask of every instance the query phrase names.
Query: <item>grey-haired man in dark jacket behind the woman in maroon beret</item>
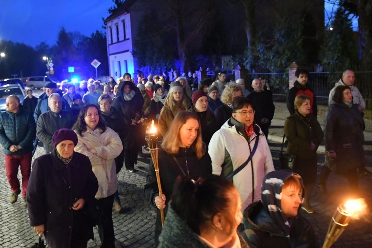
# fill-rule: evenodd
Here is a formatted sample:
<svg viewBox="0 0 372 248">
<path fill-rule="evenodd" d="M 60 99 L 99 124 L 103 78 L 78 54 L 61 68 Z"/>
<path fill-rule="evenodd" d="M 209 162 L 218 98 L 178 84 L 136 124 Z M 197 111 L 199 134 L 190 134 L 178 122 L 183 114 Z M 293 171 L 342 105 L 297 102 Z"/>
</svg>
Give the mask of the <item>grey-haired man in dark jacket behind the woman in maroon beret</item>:
<svg viewBox="0 0 372 248">
<path fill-rule="evenodd" d="M 53 133 L 61 128 L 71 129 L 74 124 L 72 114 L 62 110 L 60 94 L 51 94 L 48 97 L 48 106 L 50 110 L 41 114 L 36 126 L 37 137 L 43 142 L 46 154 L 53 150 Z"/>
</svg>

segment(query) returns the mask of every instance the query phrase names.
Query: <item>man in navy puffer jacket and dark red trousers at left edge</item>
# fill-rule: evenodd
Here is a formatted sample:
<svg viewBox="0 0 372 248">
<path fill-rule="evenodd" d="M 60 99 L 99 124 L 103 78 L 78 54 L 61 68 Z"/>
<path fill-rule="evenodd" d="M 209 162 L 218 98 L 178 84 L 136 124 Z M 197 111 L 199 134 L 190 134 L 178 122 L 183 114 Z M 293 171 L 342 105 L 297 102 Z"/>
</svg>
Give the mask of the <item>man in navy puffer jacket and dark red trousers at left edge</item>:
<svg viewBox="0 0 372 248">
<path fill-rule="evenodd" d="M 17 178 L 18 166 L 22 174 L 23 205 L 26 205 L 26 191 L 31 173 L 32 142 L 36 135 L 36 124 L 32 114 L 23 109 L 19 98 L 10 95 L 6 98 L 6 111 L 0 114 L 0 143 L 4 147 L 5 169 L 14 203 L 21 193 Z"/>
</svg>

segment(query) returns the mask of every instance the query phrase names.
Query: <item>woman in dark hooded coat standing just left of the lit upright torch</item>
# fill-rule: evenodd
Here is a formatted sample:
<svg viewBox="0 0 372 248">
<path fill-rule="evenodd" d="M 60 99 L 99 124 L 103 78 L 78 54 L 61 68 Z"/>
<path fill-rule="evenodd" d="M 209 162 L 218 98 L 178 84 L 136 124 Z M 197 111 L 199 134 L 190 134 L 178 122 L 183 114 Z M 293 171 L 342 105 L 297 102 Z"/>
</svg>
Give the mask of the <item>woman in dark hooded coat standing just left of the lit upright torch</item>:
<svg viewBox="0 0 372 248">
<path fill-rule="evenodd" d="M 134 83 L 124 81 L 119 84 L 113 107 L 124 115 L 124 124 L 127 127 L 126 142 L 124 142 L 125 167 L 133 172 L 137 161 L 138 148 L 140 147 L 137 137 L 140 135 L 141 126 L 138 124 L 142 117 L 144 99 Z"/>
</svg>

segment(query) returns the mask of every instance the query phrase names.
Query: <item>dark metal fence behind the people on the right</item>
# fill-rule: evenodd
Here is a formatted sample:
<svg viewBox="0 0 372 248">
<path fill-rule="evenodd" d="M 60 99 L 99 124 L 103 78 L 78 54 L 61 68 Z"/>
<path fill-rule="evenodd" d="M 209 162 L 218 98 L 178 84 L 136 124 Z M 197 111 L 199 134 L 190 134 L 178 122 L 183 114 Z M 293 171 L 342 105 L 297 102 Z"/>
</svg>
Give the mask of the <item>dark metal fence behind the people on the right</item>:
<svg viewBox="0 0 372 248">
<path fill-rule="evenodd" d="M 308 83 L 314 90 L 318 105 L 328 105 L 329 91 L 334 84 L 340 80 L 342 72 L 310 72 Z M 273 100 L 285 102 L 288 92 L 288 72 L 278 73 L 247 73 L 245 74 L 246 85 L 248 90 L 253 90 L 250 86 L 254 78 L 265 77 L 270 83 L 273 92 Z M 372 71 L 360 72 L 355 71 L 355 86 L 361 91 L 366 101 L 366 108 L 372 109 Z"/>
</svg>

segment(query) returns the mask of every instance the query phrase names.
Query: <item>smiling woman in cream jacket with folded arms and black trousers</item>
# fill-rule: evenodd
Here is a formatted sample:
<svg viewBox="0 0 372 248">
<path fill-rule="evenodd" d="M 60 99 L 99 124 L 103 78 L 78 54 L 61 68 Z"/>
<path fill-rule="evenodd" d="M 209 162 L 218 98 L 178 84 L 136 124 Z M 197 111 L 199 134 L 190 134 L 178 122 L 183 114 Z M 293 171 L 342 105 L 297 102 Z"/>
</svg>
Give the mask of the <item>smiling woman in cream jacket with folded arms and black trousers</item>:
<svg viewBox="0 0 372 248">
<path fill-rule="evenodd" d="M 86 104 L 80 110 L 73 130 L 77 134 L 78 143 L 75 152 L 80 152 L 92 164 L 98 180 L 96 205 L 100 209 L 98 234 L 101 247 L 115 248 L 112 207 L 114 193 L 117 189 L 115 158 L 123 150 L 119 135 L 107 127 L 100 118 L 100 111 L 94 104 Z"/>
</svg>

